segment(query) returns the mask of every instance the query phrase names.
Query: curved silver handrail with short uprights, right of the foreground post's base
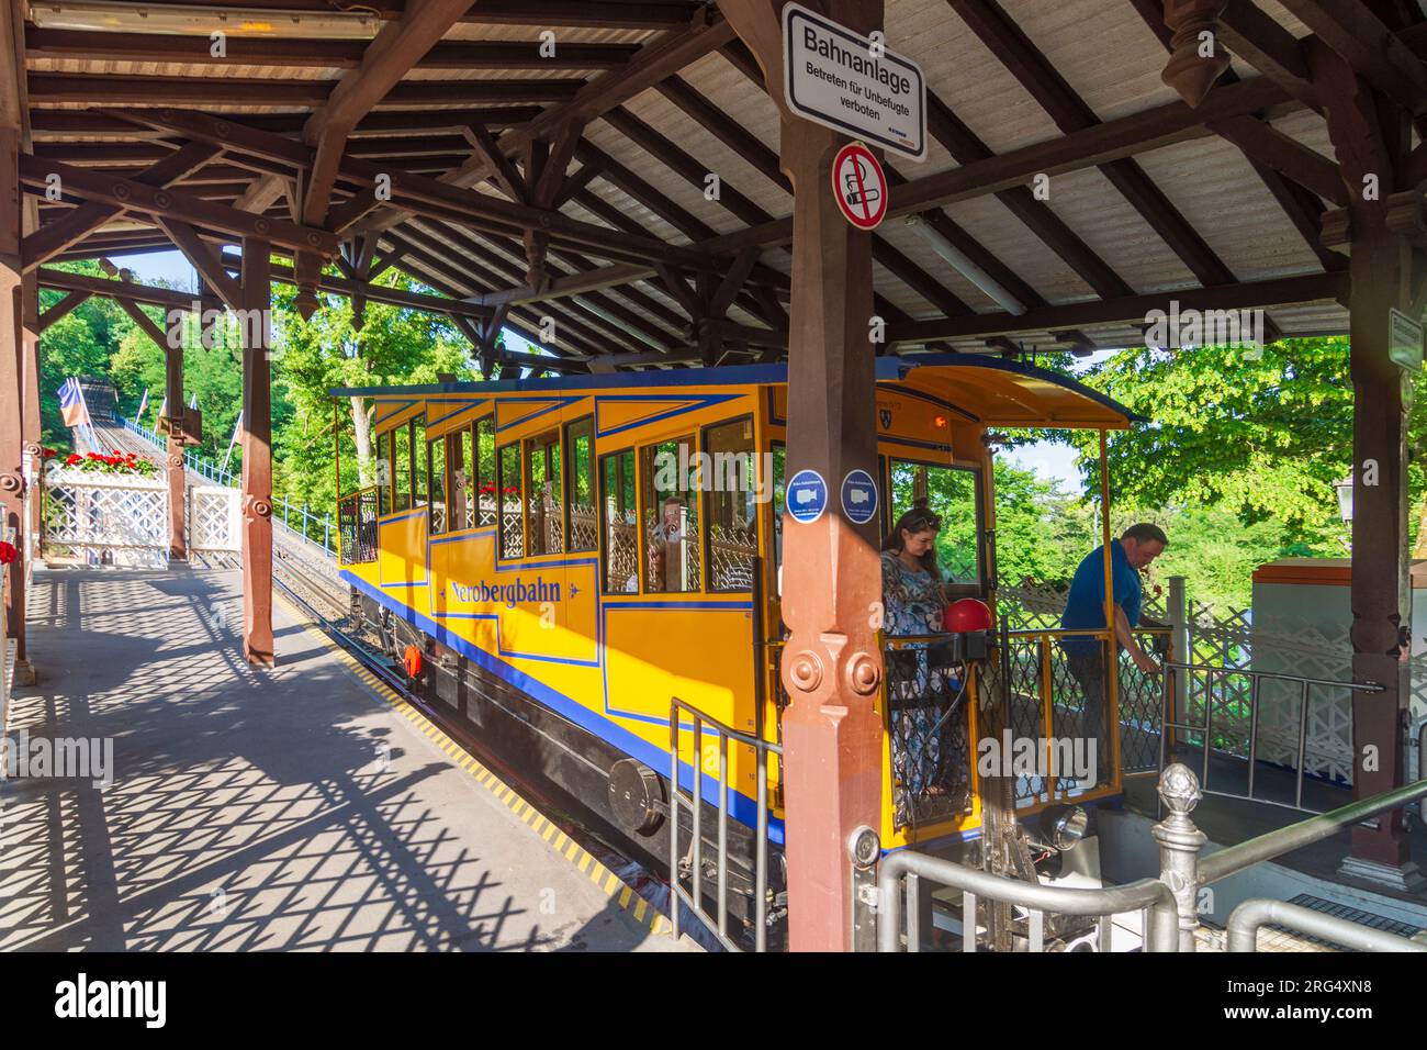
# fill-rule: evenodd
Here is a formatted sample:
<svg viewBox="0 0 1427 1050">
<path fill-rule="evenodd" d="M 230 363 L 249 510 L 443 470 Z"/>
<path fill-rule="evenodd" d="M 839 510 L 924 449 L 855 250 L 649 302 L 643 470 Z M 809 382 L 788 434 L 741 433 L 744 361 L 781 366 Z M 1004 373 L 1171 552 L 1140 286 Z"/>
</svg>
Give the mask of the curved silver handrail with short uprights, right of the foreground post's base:
<svg viewBox="0 0 1427 1050">
<path fill-rule="evenodd" d="M 918 880 L 929 879 L 940 886 L 962 891 L 962 941 L 965 950 L 976 950 L 976 903 L 996 900 L 1029 910 L 1030 950 L 1045 946 L 1045 916 L 1047 911 L 1070 916 L 1100 917 L 1100 944 L 1109 947 L 1107 916 L 1140 911 L 1144 943 L 1150 951 L 1174 951 L 1179 939 L 1179 919 L 1174 894 L 1159 879 L 1140 879 L 1126 886 L 1100 890 L 1072 890 L 1040 886 L 1016 879 L 965 867 L 943 857 L 902 850 L 882 859 L 878 870 L 878 951 L 896 951 L 902 931 L 900 880 L 906 876 L 908 896 L 916 893 Z M 906 950 L 920 950 L 918 910 L 906 913 Z"/>
</svg>

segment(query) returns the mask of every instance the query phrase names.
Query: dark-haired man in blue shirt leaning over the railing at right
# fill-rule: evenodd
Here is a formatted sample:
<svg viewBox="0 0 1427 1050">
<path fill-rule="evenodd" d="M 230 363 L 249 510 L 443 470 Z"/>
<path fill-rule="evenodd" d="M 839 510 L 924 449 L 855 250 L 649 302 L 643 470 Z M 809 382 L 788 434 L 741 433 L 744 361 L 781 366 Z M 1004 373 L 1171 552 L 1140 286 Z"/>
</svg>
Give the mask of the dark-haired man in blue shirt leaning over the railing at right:
<svg viewBox="0 0 1427 1050">
<path fill-rule="evenodd" d="M 1157 559 L 1169 537 L 1156 524 L 1142 521 L 1124 530 L 1119 540 L 1110 540 L 1110 579 L 1114 586 L 1114 637 L 1117 647 L 1130 654 L 1130 660 L 1146 674 L 1162 670 L 1134 640 L 1134 626 L 1140 621 L 1143 589 L 1140 571 Z M 1070 593 L 1066 596 L 1066 610 L 1060 616 L 1066 630 L 1104 629 L 1104 547 L 1096 547 L 1075 570 Z M 1099 639 L 1065 637 L 1060 649 L 1066 654 L 1070 674 L 1080 683 L 1085 693 L 1085 716 L 1082 731 L 1096 737 L 1096 783 L 1104 781 L 1109 769 L 1106 756 L 1110 741 L 1104 724 L 1106 666 L 1104 650 Z"/>
</svg>

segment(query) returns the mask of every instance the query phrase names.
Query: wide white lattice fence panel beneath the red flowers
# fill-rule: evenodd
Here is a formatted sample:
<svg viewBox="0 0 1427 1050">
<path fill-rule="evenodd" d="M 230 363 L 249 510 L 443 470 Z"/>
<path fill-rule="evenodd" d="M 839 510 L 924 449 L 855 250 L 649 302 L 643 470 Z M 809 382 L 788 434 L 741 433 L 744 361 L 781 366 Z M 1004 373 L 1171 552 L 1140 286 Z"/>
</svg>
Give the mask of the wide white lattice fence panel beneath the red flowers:
<svg viewBox="0 0 1427 1050">
<path fill-rule="evenodd" d="M 51 470 L 44 486 L 44 550 L 91 564 L 168 561 L 168 486 L 161 481 Z"/>
</svg>

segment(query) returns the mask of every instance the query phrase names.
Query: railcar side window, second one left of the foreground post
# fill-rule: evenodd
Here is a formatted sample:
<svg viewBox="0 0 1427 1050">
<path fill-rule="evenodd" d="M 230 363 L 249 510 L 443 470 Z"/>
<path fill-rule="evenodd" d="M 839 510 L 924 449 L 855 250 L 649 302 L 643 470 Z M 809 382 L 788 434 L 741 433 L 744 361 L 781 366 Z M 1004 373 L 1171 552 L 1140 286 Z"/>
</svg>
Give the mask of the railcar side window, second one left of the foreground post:
<svg viewBox="0 0 1427 1050">
<path fill-rule="evenodd" d="M 695 591 L 702 574 L 694 439 L 646 444 L 639 454 L 645 590 Z"/>
</svg>

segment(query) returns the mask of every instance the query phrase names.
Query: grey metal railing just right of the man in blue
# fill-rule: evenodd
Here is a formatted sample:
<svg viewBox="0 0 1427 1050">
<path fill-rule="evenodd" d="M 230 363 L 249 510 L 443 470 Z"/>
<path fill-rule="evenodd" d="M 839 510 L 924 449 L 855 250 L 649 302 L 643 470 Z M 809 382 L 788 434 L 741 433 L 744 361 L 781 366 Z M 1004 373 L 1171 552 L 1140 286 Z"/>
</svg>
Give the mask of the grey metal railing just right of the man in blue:
<svg viewBox="0 0 1427 1050">
<path fill-rule="evenodd" d="M 1313 813 L 1303 804 L 1303 784 L 1306 779 L 1306 757 L 1309 749 L 1309 716 L 1311 711 L 1313 701 L 1313 687 L 1321 689 L 1337 689 L 1350 693 L 1381 693 L 1384 686 L 1371 681 L 1333 681 L 1329 679 L 1314 679 L 1300 674 L 1281 674 L 1277 671 L 1254 671 L 1249 669 L 1239 667 L 1217 667 L 1213 664 L 1200 663 L 1176 663 L 1166 661 L 1164 664 L 1164 683 L 1162 691 L 1162 711 L 1163 711 L 1163 731 L 1160 733 L 1160 769 L 1164 769 L 1170 759 L 1170 736 L 1174 731 L 1182 731 L 1190 736 L 1190 741 L 1194 736 L 1199 737 L 1200 747 L 1200 773 L 1199 786 L 1204 794 L 1217 794 L 1230 799 L 1243 799 L 1246 801 L 1257 801 L 1270 806 L 1283 806 L 1286 809 L 1303 810 Z M 1204 719 L 1202 723 L 1193 723 L 1187 720 L 1189 711 L 1184 704 L 1186 690 L 1174 681 L 1180 674 L 1193 676 L 1194 673 L 1202 673 L 1204 676 L 1204 687 L 1202 694 Z M 1216 691 L 1213 689 L 1213 680 L 1216 677 L 1227 679 L 1249 679 L 1249 739 L 1247 740 L 1230 740 L 1219 739 L 1214 736 L 1214 707 L 1216 707 Z M 1299 724 L 1297 724 L 1297 746 L 1294 749 L 1296 760 L 1293 763 L 1293 803 L 1286 803 L 1277 799 L 1269 799 L 1263 794 L 1254 793 L 1254 784 L 1259 774 L 1259 737 L 1260 737 L 1260 699 L 1263 694 L 1261 683 L 1264 681 L 1281 681 L 1290 686 L 1296 686 L 1299 690 Z M 1189 690 L 1194 693 L 1196 690 Z M 1239 690 L 1234 690 L 1239 694 Z M 1236 701 L 1243 703 L 1243 701 Z M 1179 714 L 1179 710 L 1183 714 Z M 1190 743 L 1186 741 L 1186 743 Z M 1226 746 L 1227 744 L 1227 746 Z M 1190 746 L 1193 746 L 1190 743 Z M 1241 750 L 1247 750 L 1246 756 L 1240 756 Z M 1247 759 L 1247 787 L 1243 793 L 1216 790 L 1210 784 L 1210 760 L 1214 754 L 1232 756 L 1232 757 L 1246 757 Z"/>
</svg>

